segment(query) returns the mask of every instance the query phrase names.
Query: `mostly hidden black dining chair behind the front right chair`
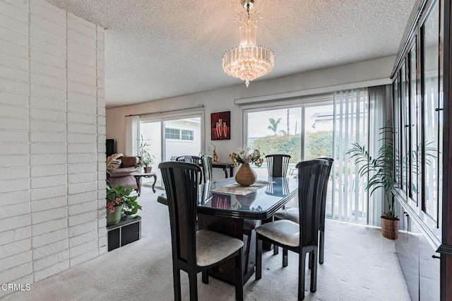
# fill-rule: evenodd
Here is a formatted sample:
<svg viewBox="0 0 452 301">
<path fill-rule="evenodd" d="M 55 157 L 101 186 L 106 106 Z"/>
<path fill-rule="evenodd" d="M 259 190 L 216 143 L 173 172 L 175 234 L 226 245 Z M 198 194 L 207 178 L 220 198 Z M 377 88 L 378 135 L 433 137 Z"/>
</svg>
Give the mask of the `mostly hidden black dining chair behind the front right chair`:
<svg viewBox="0 0 452 301">
<path fill-rule="evenodd" d="M 325 256 L 325 211 L 326 211 L 326 194 L 328 191 L 328 179 L 331 174 L 331 168 L 333 167 L 334 159 L 330 157 L 322 157 L 319 159 L 324 159 L 328 161 L 328 170 L 326 172 L 326 181 L 323 183 L 322 189 L 322 199 L 320 207 L 320 221 L 319 221 L 319 264 L 323 264 Z M 280 220 L 292 220 L 292 222 L 299 223 L 298 208 L 288 208 L 283 211 L 275 213 L 275 219 Z M 278 254 L 276 251 L 274 254 Z M 309 266 L 310 267 L 310 266 Z"/>
</svg>

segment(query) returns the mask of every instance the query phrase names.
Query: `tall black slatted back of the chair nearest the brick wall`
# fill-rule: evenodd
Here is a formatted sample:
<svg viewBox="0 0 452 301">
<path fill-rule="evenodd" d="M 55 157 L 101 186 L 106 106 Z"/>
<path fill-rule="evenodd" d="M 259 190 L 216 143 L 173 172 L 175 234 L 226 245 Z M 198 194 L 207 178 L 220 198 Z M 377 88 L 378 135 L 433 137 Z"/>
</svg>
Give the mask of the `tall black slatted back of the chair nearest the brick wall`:
<svg viewBox="0 0 452 301">
<path fill-rule="evenodd" d="M 162 172 L 167 194 L 172 252 L 177 259 L 196 264 L 196 208 L 201 167 L 194 163 L 163 162 Z"/>
</svg>

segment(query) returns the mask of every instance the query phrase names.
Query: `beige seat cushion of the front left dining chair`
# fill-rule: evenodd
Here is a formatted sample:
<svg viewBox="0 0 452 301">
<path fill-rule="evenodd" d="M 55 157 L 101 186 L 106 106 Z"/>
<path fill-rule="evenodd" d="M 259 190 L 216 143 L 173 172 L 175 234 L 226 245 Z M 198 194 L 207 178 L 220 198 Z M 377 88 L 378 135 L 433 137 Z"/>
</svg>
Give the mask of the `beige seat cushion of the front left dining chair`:
<svg viewBox="0 0 452 301">
<path fill-rule="evenodd" d="M 210 266 L 243 247 L 242 240 L 218 232 L 199 230 L 196 232 L 196 264 Z"/>
</svg>

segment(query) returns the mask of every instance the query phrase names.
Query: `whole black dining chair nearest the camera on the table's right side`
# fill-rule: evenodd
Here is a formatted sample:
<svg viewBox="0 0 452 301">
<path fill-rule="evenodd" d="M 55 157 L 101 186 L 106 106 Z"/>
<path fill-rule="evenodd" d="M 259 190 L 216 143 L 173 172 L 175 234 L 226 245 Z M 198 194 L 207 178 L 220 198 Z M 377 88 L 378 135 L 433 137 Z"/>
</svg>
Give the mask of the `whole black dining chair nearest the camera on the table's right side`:
<svg viewBox="0 0 452 301">
<path fill-rule="evenodd" d="M 304 299 L 306 255 L 311 261 L 311 292 L 317 289 L 317 256 L 319 244 L 319 220 L 321 192 L 326 180 L 328 161 L 322 159 L 297 164 L 298 199 L 301 223 L 292 220 L 275 220 L 263 224 L 256 231 L 256 280 L 262 277 L 262 244 L 269 242 L 283 247 L 283 266 L 287 266 L 287 251 L 299 254 L 298 300 Z M 312 256 L 311 256 L 312 254 Z"/>
</svg>

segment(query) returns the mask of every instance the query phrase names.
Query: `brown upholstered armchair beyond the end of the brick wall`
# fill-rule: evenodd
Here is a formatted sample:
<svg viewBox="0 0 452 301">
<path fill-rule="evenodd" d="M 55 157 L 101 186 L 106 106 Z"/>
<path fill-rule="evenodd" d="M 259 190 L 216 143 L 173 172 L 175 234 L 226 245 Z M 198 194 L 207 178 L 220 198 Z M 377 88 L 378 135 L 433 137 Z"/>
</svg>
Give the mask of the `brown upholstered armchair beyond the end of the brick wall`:
<svg viewBox="0 0 452 301">
<path fill-rule="evenodd" d="M 133 189 L 138 191 L 138 185 L 136 184 L 136 179 L 133 175 L 130 175 L 131 172 L 136 172 L 136 165 L 138 164 L 138 157 L 126 157 L 121 156 L 117 159 L 117 161 L 121 160 L 119 165 L 112 164 L 110 165 L 112 168 L 109 170 L 110 175 L 107 175 L 107 181 L 111 187 L 115 187 L 117 184 L 127 187 L 130 185 Z M 141 184 L 141 183 L 138 183 Z"/>
</svg>

